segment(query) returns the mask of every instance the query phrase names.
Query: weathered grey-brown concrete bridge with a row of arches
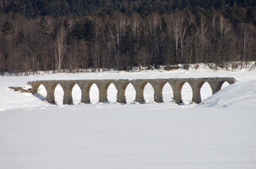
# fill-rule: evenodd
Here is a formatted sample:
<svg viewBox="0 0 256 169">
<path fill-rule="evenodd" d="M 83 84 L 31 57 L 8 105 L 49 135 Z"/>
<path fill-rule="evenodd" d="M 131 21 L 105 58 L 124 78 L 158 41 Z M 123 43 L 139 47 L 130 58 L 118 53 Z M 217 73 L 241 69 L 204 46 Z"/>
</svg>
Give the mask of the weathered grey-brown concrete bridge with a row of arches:
<svg viewBox="0 0 256 169">
<path fill-rule="evenodd" d="M 188 82 L 193 91 L 192 102 L 200 103 L 201 95 L 200 89 L 205 82 L 210 84 L 212 89 L 212 94 L 221 90 L 221 86 L 224 82 L 228 82 L 229 84 L 234 83 L 236 80 L 234 78 L 170 78 L 170 79 L 103 79 L 103 80 L 38 80 L 33 82 L 28 82 L 32 86 L 30 92 L 32 94 L 36 94 L 38 91 L 38 87 L 40 84 L 45 86 L 47 91 L 46 101 L 49 103 L 55 103 L 54 98 L 54 90 L 57 84 L 60 84 L 64 91 L 63 104 L 72 104 L 72 89 L 75 84 L 81 89 L 82 103 L 90 103 L 90 88 L 95 83 L 99 89 L 99 102 L 107 102 L 108 101 L 108 87 L 111 83 L 117 89 L 117 102 L 126 103 L 125 99 L 125 90 L 129 83 L 131 83 L 136 91 L 136 102 L 144 101 L 144 87 L 147 83 L 150 83 L 154 89 L 154 101 L 162 102 L 162 90 L 163 86 L 166 83 L 169 83 L 173 90 L 173 100 L 175 102 L 182 102 L 181 99 L 181 89 L 184 83 Z"/>
</svg>

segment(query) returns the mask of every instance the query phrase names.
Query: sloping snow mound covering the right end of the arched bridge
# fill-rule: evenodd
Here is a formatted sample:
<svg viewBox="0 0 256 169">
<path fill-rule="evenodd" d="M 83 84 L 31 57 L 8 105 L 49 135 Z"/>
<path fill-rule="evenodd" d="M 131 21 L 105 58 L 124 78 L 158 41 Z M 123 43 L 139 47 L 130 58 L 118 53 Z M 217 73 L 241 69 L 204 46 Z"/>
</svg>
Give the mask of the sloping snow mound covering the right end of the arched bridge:
<svg viewBox="0 0 256 169">
<path fill-rule="evenodd" d="M 256 80 L 237 81 L 199 103 L 196 107 L 244 107 L 256 104 Z"/>
</svg>

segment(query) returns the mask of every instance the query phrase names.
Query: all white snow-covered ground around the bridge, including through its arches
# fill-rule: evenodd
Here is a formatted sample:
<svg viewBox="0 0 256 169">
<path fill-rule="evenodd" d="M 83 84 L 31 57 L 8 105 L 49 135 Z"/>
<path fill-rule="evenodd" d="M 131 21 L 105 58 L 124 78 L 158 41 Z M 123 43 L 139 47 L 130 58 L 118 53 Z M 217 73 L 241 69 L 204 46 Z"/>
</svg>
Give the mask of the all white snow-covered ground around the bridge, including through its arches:
<svg viewBox="0 0 256 169">
<path fill-rule="evenodd" d="M 169 84 L 163 103 L 155 103 L 147 84 L 146 104 L 133 104 L 135 90 L 125 92 L 128 104 L 116 103 L 113 84 L 110 103 L 81 104 L 77 85 L 74 105 L 62 105 L 63 90 L 55 90 L 56 105 L 38 94 L 19 93 L 9 86 L 26 86 L 46 79 L 137 79 L 235 77 L 237 81 L 211 95 L 208 83 L 200 104 L 190 104 L 192 90 L 182 88 L 185 105 L 172 102 Z M 150 70 L 147 72 L 45 74 L 0 76 L 0 168 L 2 169 L 240 169 L 256 168 L 256 70 Z"/>
</svg>

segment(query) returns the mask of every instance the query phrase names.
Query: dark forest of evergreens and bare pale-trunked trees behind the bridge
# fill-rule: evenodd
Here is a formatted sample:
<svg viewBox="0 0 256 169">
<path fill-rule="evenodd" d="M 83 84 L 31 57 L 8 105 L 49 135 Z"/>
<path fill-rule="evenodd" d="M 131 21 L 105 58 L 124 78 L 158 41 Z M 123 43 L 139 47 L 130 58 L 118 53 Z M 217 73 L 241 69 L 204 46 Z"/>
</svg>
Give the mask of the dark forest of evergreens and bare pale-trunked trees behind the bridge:
<svg viewBox="0 0 256 169">
<path fill-rule="evenodd" d="M 252 68 L 255 4 L 0 0 L 0 74 L 128 71 L 180 63 Z"/>
</svg>

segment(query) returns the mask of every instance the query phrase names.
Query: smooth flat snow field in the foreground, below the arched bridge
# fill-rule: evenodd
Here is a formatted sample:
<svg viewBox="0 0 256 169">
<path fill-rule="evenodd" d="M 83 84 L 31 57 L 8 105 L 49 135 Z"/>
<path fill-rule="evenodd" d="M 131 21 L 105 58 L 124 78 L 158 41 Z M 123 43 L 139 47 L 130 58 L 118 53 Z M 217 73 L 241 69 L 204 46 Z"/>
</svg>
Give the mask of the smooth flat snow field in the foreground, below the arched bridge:
<svg viewBox="0 0 256 169">
<path fill-rule="evenodd" d="M 8 169 L 255 168 L 256 119 L 250 109 L 102 103 L 8 110 L 1 113 L 0 164 Z"/>
</svg>

